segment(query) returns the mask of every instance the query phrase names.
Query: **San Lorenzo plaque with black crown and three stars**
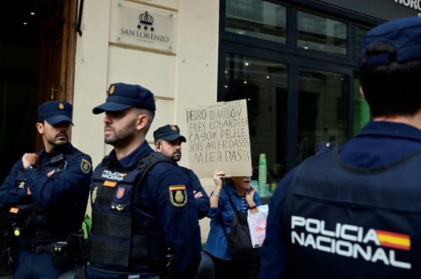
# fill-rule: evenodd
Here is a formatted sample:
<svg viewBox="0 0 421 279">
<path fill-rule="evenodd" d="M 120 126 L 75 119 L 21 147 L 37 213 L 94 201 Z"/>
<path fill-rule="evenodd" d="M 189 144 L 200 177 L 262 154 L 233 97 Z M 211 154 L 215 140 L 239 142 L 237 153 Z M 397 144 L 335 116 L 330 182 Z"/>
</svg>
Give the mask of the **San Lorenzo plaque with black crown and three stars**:
<svg viewBox="0 0 421 279">
<path fill-rule="evenodd" d="M 112 28 L 110 41 L 174 51 L 174 12 L 125 1 L 116 3 L 116 28 Z"/>
</svg>

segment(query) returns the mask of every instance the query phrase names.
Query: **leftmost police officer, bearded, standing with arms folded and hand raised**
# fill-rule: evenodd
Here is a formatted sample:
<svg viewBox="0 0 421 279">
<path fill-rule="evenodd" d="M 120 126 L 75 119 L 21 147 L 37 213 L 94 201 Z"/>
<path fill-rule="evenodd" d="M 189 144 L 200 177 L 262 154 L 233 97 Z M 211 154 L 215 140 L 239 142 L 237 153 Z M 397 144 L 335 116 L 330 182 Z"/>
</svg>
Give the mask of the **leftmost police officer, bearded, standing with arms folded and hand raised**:
<svg viewBox="0 0 421 279">
<path fill-rule="evenodd" d="M 18 249 L 14 278 L 58 278 L 73 267 L 67 238 L 81 229 L 92 161 L 69 143 L 72 109 L 68 102 L 41 104 L 36 128 L 44 148 L 24 154 L 0 188 L 16 245 L 8 248 Z"/>
</svg>

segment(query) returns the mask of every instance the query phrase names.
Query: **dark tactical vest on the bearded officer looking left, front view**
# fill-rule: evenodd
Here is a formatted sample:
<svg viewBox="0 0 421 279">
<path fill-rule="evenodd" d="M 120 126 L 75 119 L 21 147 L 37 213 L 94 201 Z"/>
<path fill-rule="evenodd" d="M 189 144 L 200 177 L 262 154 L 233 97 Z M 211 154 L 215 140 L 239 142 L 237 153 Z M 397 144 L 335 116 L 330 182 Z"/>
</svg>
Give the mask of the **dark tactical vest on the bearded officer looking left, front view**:
<svg viewBox="0 0 421 279">
<path fill-rule="evenodd" d="M 133 214 L 136 200 L 139 204 L 138 191 L 143 178 L 161 161 L 171 163 L 152 153 L 141 158 L 133 170 L 116 170 L 102 161 L 93 172 L 93 224 L 89 238 L 93 268 L 105 272 L 118 270 L 123 274 L 131 273 L 136 264 L 148 266 L 150 273 L 163 271 L 166 247 L 159 222 L 142 210 L 142 214 Z"/>
</svg>

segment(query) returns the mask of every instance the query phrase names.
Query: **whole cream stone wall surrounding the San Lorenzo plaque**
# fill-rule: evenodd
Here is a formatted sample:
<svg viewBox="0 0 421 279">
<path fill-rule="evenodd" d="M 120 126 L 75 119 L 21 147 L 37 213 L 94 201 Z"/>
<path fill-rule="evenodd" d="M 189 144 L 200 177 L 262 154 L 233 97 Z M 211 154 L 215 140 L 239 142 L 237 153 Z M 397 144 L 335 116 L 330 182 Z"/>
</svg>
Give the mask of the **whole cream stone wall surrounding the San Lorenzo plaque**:
<svg viewBox="0 0 421 279">
<path fill-rule="evenodd" d="M 109 46 L 110 29 L 116 25 L 113 9 L 118 0 L 90 0 L 83 6 L 83 35 L 76 44 L 74 81 L 74 130 L 72 143 L 98 165 L 111 147 L 103 140 L 103 114 L 93 107 L 105 102 L 109 84 L 116 82 L 144 86 L 156 97 L 156 116 L 147 135 L 167 123 L 186 131 L 185 107 L 216 102 L 218 74 L 219 1 L 144 0 L 131 4 L 149 5 L 175 14 L 175 55 L 121 46 Z M 181 165 L 189 166 L 187 144 Z M 203 179 L 210 193 L 211 179 Z M 209 219 L 201 221 L 206 240 Z"/>
</svg>

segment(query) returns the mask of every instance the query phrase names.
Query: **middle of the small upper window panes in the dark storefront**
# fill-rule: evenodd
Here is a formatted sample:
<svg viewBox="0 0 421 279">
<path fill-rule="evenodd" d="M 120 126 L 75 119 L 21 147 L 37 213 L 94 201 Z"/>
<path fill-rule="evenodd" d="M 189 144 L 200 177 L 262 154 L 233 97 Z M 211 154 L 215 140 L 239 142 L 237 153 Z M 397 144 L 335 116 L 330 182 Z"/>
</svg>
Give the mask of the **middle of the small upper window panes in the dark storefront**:
<svg viewBox="0 0 421 279">
<path fill-rule="evenodd" d="M 298 47 L 347 55 L 347 24 L 298 11 Z"/>
</svg>

